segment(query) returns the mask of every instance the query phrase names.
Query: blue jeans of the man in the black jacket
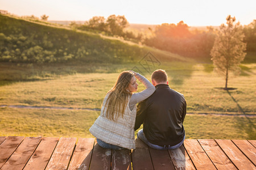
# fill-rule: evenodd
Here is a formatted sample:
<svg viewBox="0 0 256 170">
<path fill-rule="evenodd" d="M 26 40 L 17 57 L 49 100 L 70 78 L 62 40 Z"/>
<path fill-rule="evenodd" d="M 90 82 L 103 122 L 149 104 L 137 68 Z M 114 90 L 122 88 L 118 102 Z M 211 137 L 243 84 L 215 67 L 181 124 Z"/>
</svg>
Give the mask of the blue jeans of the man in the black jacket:
<svg viewBox="0 0 256 170">
<path fill-rule="evenodd" d="M 150 142 L 147 141 L 147 138 L 145 137 L 144 133 L 143 133 L 143 129 L 139 130 L 138 131 L 138 134 L 137 134 L 138 138 L 141 139 L 144 143 L 146 143 L 148 146 L 152 147 L 152 148 L 155 148 L 157 150 L 174 150 L 176 148 L 179 148 L 183 142 L 184 142 L 184 139 L 185 139 L 185 135 L 184 135 L 184 138 L 183 140 L 178 143 L 177 145 L 175 146 L 170 146 L 170 145 L 164 145 L 164 146 L 158 146 L 158 145 L 154 145 Z"/>
</svg>

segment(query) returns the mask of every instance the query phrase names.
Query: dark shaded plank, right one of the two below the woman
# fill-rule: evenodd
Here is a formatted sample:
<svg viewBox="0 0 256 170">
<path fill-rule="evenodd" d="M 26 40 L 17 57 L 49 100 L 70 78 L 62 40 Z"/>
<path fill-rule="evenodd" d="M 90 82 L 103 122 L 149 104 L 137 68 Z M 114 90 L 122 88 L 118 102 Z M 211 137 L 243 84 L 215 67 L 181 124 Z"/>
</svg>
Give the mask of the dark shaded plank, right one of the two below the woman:
<svg viewBox="0 0 256 170">
<path fill-rule="evenodd" d="M 131 150 L 112 150 L 112 169 L 131 170 Z"/>
</svg>

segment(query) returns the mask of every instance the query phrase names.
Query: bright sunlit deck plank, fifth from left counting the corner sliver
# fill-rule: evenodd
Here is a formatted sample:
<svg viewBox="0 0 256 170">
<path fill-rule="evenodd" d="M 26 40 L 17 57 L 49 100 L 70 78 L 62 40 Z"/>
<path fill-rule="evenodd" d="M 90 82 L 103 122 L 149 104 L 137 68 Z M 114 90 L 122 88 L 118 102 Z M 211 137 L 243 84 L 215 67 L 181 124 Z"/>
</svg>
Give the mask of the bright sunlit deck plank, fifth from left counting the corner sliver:
<svg viewBox="0 0 256 170">
<path fill-rule="evenodd" d="M 60 138 L 46 169 L 67 169 L 76 138 Z"/>
</svg>

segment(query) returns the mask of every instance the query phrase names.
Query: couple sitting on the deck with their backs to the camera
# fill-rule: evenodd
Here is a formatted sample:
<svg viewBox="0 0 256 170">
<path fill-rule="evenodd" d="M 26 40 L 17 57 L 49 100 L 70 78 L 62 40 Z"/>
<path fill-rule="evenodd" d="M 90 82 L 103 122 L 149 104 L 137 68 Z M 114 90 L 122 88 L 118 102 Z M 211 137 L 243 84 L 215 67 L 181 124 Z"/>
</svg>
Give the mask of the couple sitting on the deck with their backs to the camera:
<svg viewBox="0 0 256 170">
<path fill-rule="evenodd" d="M 146 89 L 134 93 L 137 79 Z M 114 150 L 134 149 L 134 130 L 141 124 L 138 138 L 152 148 L 175 149 L 183 144 L 187 107 L 184 96 L 168 86 L 164 70 L 154 71 L 151 80 L 152 84 L 134 71 L 119 74 L 104 98 L 100 116 L 89 129 L 98 145 Z"/>
</svg>

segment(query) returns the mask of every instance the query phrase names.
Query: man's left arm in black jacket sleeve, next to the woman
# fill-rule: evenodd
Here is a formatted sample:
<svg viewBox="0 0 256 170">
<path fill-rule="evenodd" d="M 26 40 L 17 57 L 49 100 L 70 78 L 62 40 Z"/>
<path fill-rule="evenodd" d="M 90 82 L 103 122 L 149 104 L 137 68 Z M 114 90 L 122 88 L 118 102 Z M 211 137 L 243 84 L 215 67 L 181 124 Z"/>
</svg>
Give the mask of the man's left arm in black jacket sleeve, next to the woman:
<svg viewBox="0 0 256 170">
<path fill-rule="evenodd" d="M 144 122 L 144 118 L 146 116 L 146 110 L 147 110 L 146 101 L 147 100 L 141 101 L 137 106 L 137 116 L 136 116 L 134 130 L 139 129 L 139 127 L 141 127 L 141 124 L 143 124 Z"/>
</svg>

